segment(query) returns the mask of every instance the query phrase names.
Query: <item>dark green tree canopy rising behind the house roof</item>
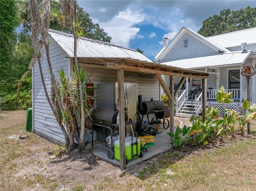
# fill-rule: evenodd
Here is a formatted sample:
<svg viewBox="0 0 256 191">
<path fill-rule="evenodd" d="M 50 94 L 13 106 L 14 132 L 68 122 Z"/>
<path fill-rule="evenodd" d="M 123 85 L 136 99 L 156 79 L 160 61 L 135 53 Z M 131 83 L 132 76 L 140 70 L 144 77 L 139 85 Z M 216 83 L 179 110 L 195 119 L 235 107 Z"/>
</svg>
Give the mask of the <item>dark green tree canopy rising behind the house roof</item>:
<svg viewBox="0 0 256 191">
<path fill-rule="evenodd" d="M 223 9 L 219 15 L 204 20 L 198 34 L 209 37 L 252 27 L 256 27 L 256 7 L 247 6 L 237 11 Z"/>
</svg>

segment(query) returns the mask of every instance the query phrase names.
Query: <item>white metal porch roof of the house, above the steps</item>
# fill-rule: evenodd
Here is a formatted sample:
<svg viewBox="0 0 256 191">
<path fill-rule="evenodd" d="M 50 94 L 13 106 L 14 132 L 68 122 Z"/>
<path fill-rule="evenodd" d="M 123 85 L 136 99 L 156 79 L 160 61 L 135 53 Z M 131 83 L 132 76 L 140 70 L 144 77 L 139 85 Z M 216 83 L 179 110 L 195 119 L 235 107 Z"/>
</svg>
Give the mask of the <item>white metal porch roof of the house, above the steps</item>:
<svg viewBox="0 0 256 191">
<path fill-rule="evenodd" d="M 243 64 L 251 52 L 232 52 L 212 56 L 195 57 L 193 59 L 175 60 L 161 64 L 185 69 L 196 69 L 206 67 L 219 67 L 221 65 Z"/>
</svg>

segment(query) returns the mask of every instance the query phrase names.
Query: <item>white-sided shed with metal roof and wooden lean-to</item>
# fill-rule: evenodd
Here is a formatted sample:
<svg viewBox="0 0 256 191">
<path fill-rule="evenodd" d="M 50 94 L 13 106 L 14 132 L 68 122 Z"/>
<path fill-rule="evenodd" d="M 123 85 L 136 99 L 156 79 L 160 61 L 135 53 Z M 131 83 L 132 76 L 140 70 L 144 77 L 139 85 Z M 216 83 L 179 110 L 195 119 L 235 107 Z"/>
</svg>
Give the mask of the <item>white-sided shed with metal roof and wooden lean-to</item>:
<svg viewBox="0 0 256 191">
<path fill-rule="evenodd" d="M 56 30 L 49 30 L 48 34 L 47 40 L 49 41 L 50 60 L 55 77 L 58 79 L 58 70 L 63 69 L 66 76 L 70 78 L 74 65 L 73 35 Z M 46 89 L 51 94 L 51 76 L 44 46 L 41 52 L 43 77 Z M 93 128 L 94 123 L 97 123 L 95 124 L 96 127 L 102 128 L 108 124 L 111 128 L 114 127 L 113 131 L 117 130 L 119 132 L 121 169 L 125 169 L 125 152 L 122 151 L 125 150 L 126 116 L 127 118 L 131 118 L 133 122 L 135 121 L 134 123 L 136 124 L 138 120 L 138 96 L 142 96 L 142 101 L 150 101 L 152 99 L 153 104 L 151 105 L 154 107 L 154 101 L 159 101 L 160 99 L 160 85 L 163 87 L 171 103 L 169 110 L 170 131 L 173 132 L 174 95 L 175 92 L 178 92 L 179 88 L 174 91 L 172 80 L 172 88 L 169 91 L 161 75 L 171 76 L 171 79 L 175 76 L 179 76 L 182 79 L 186 77 L 198 78 L 202 79 L 203 82 L 209 76 L 209 73 L 206 72 L 156 64 L 133 49 L 83 37 L 79 37 L 78 39 L 77 61 L 79 66 L 86 70 L 90 76 L 94 76 L 90 82 L 90 86 L 99 87 L 97 92 L 94 92 L 98 95 L 98 99 L 94 101 L 94 107 L 97 110 L 94 110 L 100 112 L 98 112 L 98 115 L 95 115 L 96 117 L 94 116 L 97 119 L 93 120 Z M 31 59 L 29 68 L 32 69 L 33 131 L 52 142 L 64 143 L 65 138 L 45 97 L 36 56 Z M 204 99 L 205 97 L 202 96 L 202 98 Z M 155 107 L 153 108 L 154 110 Z M 118 108 L 118 111 L 115 108 Z M 119 124 L 113 122 L 117 121 L 117 112 L 119 114 Z M 130 123 L 128 124 L 128 128 L 133 128 L 130 126 Z M 92 140 L 100 139 L 101 135 L 107 134 L 107 129 L 103 132 L 101 130 L 94 131 L 93 129 L 86 129 L 85 142 L 88 143 Z M 157 149 L 151 153 L 147 152 L 143 156 L 143 160 L 170 150 L 170 137 L 167 134 L 156 136 L 155 139 L 156 143 L 154 146 Z M 106 137 L 103 137 L 103 140 L 106 140 Z M 106 147 L 105 144 L 103 146 Z M 119 164 L 116 160 L 108 159 L 107 152 L 99 150 L 97 156 Z M 131 162 L 130 165 L 132 164 L 134 163 Z"/>
</svg>

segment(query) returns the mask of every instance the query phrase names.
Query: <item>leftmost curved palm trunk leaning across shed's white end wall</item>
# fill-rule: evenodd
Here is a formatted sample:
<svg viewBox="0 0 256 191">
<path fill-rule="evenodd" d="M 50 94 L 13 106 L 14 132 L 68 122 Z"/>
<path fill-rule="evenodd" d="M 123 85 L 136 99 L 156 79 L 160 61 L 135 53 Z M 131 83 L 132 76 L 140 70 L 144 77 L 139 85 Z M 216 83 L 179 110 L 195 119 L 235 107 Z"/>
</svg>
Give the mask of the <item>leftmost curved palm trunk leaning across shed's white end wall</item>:
<svg viewBox="0 0 256 191">
<path fill-rule="evenodd" d="M 69 140 L 70 140 L 70 138 L 69 138 L 69 136 L 68 136 L 68 134 L 67 134 L 67 131 L 66 131 L 66 129 L 64 128 L 64 126 L 63 126 L 61 120 L 58 120 L 58 114 L 56 113 L 56 111 L 55 111 L 55 109 L 54 109 L 54 107 L 53 107 L 53 105 L 52 105 L 51 99 L 50 99 L 50 97 L 49 97 L 49 94 L 48 94 L 48 92 L 47 92 L 47 89 L 46 89 L 46 86 L 45 86 L 45 81 L 44 81 L 44 76 L 43 76 L 43 71 L 42 71 L 41 60 L 40 60 L 39 57 L 37 57 L 37 61 L 38 61 L 38 67 L 39 67 L 39 71 L 40 71 L 41 81 L 42 81 L 42 84 L 43 84 L 43 87 L 44 87 L 44 93 L 45 93 L 47 102 L 49 103 L 49 105 L 50 105 L 50 107 L 51 107 L 51 109 L 52 109 L 52 112 L 53 112 L 53 114 L 54 114 L 54 117 L 56 118 L 56 120 L 57 120 L 58 123 L 59 123 L 60 129 L 61 129 L 61 131 L 62 131 L 62 133 L 63 133 L 63 135 L 64 135 L 64 137 L 65 137 L 66 144 L 67 144 L 67 147 L 68 147 L 68 146 L 69 146 Z"/>
</svg>

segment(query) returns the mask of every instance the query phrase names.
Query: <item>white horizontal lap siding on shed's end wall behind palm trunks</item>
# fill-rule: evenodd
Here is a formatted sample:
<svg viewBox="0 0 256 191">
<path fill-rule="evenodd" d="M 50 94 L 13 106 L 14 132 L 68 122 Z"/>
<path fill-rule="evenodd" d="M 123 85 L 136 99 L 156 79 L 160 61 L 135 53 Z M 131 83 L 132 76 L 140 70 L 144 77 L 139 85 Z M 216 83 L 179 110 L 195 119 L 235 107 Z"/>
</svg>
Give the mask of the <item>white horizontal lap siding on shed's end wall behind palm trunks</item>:
<svg viewBox="0 0 256 191">
<path fill-rule="evenodd" d="M 50 60 L 55 77 L 58 79 L 58 70 L 63 68 L 68 75 L 69 59 L 63 49 L 55 42 L 50 43 Z M 47 92 L 51 95 L 51 74 L 46 60 L 44 48 L 41 57 L 42 71 L 45 79 Z M 34 130 L 37 134 L 54 142 L 65 142 L 65 138 L 56 121 L 53 112 L 45 97 L 44 88 L 39 73 L 38 63 L 34 64 Z"/>
</svg>

